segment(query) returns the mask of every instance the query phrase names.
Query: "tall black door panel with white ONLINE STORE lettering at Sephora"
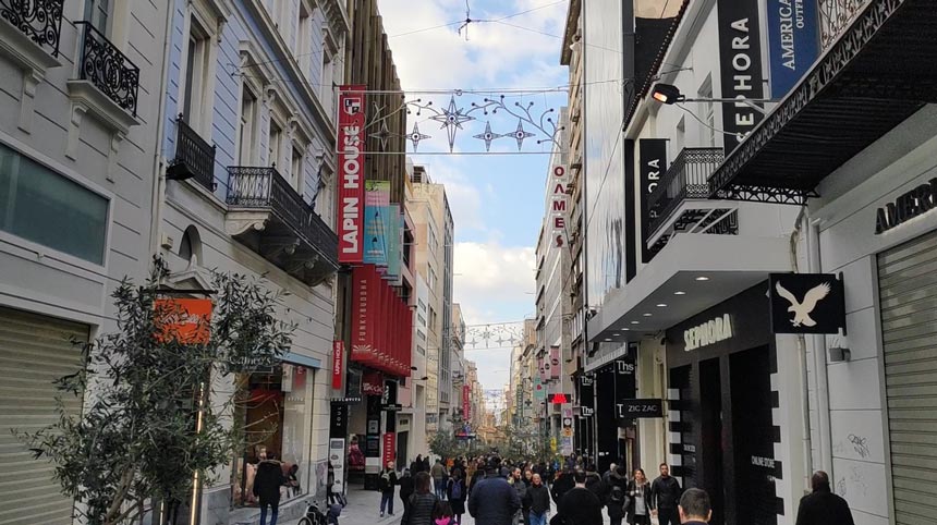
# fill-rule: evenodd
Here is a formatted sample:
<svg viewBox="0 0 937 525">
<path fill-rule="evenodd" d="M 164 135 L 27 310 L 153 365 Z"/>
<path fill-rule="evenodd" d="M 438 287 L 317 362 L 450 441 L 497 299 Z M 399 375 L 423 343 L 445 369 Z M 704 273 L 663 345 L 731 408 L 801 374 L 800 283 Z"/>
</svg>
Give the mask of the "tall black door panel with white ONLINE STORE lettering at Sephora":
<svg viewBox="0 0 937 525">
<path fill-rule="evenodd" d="M 732 354 L 735 523 L 777 525 L 769 349 Z"/>
</svg>

